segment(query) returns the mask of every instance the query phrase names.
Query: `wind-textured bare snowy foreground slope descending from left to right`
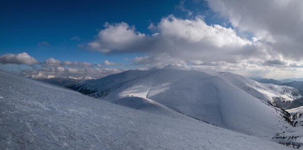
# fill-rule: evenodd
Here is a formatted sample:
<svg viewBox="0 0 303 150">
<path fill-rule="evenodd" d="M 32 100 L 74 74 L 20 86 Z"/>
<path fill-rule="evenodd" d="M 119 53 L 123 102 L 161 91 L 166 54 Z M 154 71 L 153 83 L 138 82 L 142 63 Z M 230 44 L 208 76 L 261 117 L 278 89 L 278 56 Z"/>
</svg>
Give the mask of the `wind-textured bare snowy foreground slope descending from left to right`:
<svg viewBox="0 0 303 150">
<path fill-rule="evenodd" d="M 286 150 L 152 103 L 152 114 L 0 72 L 0 149 Z M 148 107 L 147 107 L 148 108 Z M 146 112 L 147 111 L 147 112 Z M 290 148 L 289 148 L 290 149 Z"/>
</svg>

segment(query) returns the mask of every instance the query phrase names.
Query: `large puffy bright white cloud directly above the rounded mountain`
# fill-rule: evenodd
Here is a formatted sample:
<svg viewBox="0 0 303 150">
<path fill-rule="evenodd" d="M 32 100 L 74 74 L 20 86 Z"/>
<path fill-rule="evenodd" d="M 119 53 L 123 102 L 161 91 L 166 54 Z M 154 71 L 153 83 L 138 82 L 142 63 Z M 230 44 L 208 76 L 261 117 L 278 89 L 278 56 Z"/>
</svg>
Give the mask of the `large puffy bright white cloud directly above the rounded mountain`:
<svg viewBox="0 0 303 150">
<path fill-rule="evenodd" d="M 244 55 L 262 56 L 251 41 L 239 37 L 235 30 L 207 25 L 199 16 L 180 19 L 169 15 L 150 29 L 157 32 L 149 36 L 123 22 L 107 24 L 88 48 L 103 53 L 143 52 L 151 58 L 165 55 L 184 61 L 235 61 Z"/>
</svg>

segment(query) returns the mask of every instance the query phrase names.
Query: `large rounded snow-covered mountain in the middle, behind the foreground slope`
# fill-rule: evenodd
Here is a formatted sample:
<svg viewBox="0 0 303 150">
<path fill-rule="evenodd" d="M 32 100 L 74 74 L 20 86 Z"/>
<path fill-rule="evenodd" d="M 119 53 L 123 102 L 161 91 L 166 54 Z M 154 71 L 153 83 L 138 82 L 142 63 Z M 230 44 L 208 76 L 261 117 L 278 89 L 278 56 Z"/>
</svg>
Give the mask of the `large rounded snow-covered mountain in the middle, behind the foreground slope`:
<svg viewBox="0 0 303 150">
<path fill-rule="evenodd" d="M 175 69 L 142 72 L 132 71 L 136 77 L 130 80 L 125 80 L 125 73 L 109 75 L 83 82 L 77 88 L 95 91 L 88 95 L 107 101 L 125 96 L 148 98 L 185 115 L 249 135 L 273 135 L 291 126 L 281 109 L 261 102 L 219 76 Z M 119 80 L 122 82 L 116 82 Z"/>
</svg>

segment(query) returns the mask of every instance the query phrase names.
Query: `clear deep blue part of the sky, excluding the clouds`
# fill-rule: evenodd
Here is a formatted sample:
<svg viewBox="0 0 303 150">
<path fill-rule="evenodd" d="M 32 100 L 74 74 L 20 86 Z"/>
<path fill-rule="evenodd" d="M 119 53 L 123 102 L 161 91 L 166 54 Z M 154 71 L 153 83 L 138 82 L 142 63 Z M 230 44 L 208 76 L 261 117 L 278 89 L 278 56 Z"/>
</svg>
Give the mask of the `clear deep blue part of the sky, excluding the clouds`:
<svg viewBox="0 0 303 150">
<path fill-rule="evenodd" d="M 93 40 L 104 23 L 126 22 L 136 30 L 151 34 L 148 26 L 162 17 L 186 18 L 177 8 L 179 0 L 2 0 L 0 5 L 0 54 L 27 52 L 39 61 L 57 60 L 100 63 L 125 62 L 140 54 L 104 55 L 80 48 Z M 185 1 L 184 8 L 194 15 L 205 15 L 208 24 L 218 24 L 204 1 Z M 78 36 L 81 40 L 71 40 Z M 49 45 L 38 46 L 40 42 Z"/>
</svg>

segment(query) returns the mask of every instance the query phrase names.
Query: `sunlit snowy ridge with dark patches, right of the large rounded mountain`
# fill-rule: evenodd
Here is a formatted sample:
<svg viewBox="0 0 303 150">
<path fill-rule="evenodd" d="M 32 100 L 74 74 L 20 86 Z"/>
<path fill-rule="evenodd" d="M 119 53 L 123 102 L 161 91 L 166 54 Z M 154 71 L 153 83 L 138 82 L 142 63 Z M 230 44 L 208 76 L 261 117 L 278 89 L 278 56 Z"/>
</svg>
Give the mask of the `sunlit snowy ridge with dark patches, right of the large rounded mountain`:
<svg viewBox="0 0 303 150">
<path fill-rule="evenodd" d="M 217 75 L 248 94 L 270 102 L 282 109 L 295 108 L 303 105 L 303 92 L 295 88 L 258 83 L 242 75 L 229 72 L 218 72 L 212 75 Z"/>
</svg>

